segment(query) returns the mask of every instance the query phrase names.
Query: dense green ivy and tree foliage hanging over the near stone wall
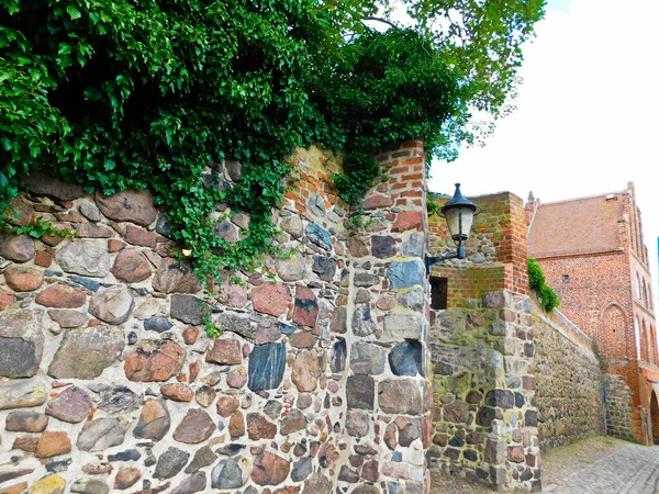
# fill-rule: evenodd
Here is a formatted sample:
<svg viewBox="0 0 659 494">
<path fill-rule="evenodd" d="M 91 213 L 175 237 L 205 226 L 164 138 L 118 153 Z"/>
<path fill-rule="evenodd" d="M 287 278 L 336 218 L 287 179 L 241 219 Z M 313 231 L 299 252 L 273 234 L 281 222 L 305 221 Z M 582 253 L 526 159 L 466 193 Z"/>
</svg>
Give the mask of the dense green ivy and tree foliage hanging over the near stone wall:
<svg viewBox="0 0 659 494">
<path fill-rule="evenodd" d="M 148 188 L 203 278 L 273 252 L 295 146 L 347 146 L 336 182 L 351 201 L 379 171 L 378 145 L 422 137 L 428 158 L 455 154 L 471 108 L 501 112 L 541 1 L 414 1 L 416 25 L 387 33 L 364 27 L 379 7 L 0 0 L 0 223 L 31 170 L 89 191 Z M 460 29 L 431 29 L 447 15 Z M 243 162 L 239 183 L 204 186 L 226 157 Z M 252 214 L 235 245 L 212 234 L 219 201 Z"/>
</svg>

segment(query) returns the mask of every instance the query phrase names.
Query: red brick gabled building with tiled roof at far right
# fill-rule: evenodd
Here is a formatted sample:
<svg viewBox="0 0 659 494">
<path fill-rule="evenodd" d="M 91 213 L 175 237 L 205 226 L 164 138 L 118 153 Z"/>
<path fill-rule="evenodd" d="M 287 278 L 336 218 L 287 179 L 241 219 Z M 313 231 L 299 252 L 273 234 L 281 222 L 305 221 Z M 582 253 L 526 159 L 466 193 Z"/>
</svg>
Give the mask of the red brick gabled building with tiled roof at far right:
<svg viewBox="0 0 659 494">
<path fill-rule="evenodd" d="M 648 249 L 634 184 L 619 192 L 526 203 L 528 256 L 561 311 L 591 335 L 605 375 L 606 428 L 659 441 L 659 356 Z"/>
</svg>

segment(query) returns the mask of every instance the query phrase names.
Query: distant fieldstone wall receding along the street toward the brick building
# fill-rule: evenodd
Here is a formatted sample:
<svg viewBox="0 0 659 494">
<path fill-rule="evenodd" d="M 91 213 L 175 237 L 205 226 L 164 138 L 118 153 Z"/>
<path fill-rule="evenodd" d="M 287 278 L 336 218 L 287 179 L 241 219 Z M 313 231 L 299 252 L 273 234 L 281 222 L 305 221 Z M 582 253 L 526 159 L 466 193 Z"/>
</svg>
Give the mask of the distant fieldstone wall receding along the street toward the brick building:
<svg viewBox="0 0 659 494">
<path fill-rule="evenodd" d="M 543 451 L 604 433 L 603 375 L 592 339 L 534 303 L 536 406 Z"/>
</svg>

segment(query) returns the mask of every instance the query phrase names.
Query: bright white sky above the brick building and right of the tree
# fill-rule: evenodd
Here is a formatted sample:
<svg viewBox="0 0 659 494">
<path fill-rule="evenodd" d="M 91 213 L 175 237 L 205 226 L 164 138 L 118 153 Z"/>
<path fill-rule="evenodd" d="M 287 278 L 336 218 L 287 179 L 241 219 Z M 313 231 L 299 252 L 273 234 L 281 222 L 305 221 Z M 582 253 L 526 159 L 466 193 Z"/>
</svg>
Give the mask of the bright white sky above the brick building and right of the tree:
<svg viewBox="0 0 659 494">
<path fill-rule="evenodd" d="M 524 49 L 517 110 L 428 188 L 552 202 L 636 187 L 657 301 L 659 1 L 549 0 Z M 656 304 L 659 306 L 659 304 Z"/>
</svg>

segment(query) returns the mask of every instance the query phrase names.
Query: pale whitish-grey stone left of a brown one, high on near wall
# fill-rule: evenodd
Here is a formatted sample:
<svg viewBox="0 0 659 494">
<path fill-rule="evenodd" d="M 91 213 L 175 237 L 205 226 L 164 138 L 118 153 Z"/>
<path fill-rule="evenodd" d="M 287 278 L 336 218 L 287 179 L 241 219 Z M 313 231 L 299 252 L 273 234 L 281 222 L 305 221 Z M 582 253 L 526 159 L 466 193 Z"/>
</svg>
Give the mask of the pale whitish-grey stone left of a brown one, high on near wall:
<svg viewBox="0 0 659 494">
<path fill-rule="evenodd" d="M 103 278 L 110 272 L 110 255 L 104 240 L 72 240 L 62 248 L 55 260 L 66 272 Z"/>
</svg>

